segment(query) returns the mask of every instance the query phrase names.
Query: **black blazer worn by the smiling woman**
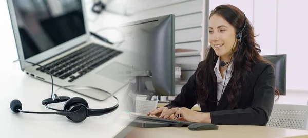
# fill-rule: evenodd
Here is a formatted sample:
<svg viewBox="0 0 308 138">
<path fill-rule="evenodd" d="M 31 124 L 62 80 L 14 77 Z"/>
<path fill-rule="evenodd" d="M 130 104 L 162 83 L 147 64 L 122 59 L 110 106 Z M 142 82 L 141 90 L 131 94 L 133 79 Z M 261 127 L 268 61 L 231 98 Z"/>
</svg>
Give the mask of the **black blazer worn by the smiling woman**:
<svg viewBox="0 0 308 138">
<path fill-rule="evenodd" d="M 200 67 L 200 63 L 198 68 Z M 200 107 L 202 112 L 210 112 L 211 122 L 213 124 L 261 126 L 267 124 L 269 116 L 271 116 L 275 98 L 276 84 L 274 68 L 268 63 L 257 63 L 252 66 L 251 71 L 252 74 L 249 76 L 247 85 L 242 87 L 242 94 L 237 108 L 232 110 L 228 109 L 227 94 L 230 91 L 232 79 L 228 82 L 218 105 L 217 102 L 207 101 L 207 106 Z M 197 104 L 195 88 L 196 72 L 182 87 L 181 93 L 165 107 L 186 107 L 191 109 Z M 213 95 L 211 99 L 217 101 L 217 87 L 214 87 L 211 93 Z"/>
</svg>

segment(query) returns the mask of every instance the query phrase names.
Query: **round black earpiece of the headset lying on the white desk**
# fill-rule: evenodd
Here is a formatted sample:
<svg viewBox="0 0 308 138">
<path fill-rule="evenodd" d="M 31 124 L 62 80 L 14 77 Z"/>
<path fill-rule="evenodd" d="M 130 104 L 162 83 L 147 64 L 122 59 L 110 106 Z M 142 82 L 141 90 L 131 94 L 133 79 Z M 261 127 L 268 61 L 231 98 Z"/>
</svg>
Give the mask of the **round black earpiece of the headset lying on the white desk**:
<svg viewBox="0 0 308 138">
<path fill-rule="evenodd" d="M 65 111 L 73 112 L 79 110 L 80 108 L 83 108 L 82 110 L 84 110 L 80 114 L 77 114 L 73 118 L 69 116 L 66 117 L 74 122 L 81 122 L 88 117 L 88 108 L 89 108 L 88 102 L 83 98 L 73 97 L 67 100 L 64 104 Z"/>
</svg>

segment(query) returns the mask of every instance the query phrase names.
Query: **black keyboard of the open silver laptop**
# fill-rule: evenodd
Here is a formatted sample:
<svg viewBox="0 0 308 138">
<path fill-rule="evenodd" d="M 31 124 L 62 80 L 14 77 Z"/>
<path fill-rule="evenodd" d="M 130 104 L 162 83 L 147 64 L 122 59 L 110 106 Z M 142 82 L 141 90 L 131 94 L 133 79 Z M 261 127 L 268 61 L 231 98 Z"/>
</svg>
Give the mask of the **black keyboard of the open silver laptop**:
<svg viewBox="0 0 308 138">
<path fill-rule="evenodd" d="M 52 76 L 60 79 L 69 77 L 69 82 L 72 82 L 121 53 L 121 51 L 92 43 L 44 67 L 49 70 Z M 42 67 L 38 67 L 36 70 L 49 74 Z"/>
</svg>

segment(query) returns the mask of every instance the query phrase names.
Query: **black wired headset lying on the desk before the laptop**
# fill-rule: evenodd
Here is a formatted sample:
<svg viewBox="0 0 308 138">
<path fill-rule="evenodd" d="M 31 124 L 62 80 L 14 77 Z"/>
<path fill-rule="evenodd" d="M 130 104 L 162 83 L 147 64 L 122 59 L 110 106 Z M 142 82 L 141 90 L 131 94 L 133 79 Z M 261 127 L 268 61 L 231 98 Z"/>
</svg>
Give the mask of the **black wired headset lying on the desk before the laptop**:
<svg viewBox="0 0 308 138">
<path fill-rule="evenodd" d="M 17 60 L 17 61 L 23 61 L 23 60 Z M 47 68 L 45 68 L 41 65 L 35 64 L 35 63 L 28 62 L 28 61 L 23 61 L 23 62 L 27 62 L 27 63 L 33 64 L 33 65 L 40 66 L 40 67 L 44 68 L 50 74 L 51 81 L 52 81 L 51 98 L 47 98 L 47 99 L 43 100 L 42 104 L 45 105 L 46 108 L 55 110 L 57 112 L 23 111 L 22 110 L 22 103 L 20 102 L 20 100 L 15 99 L 15 100 L 12 100 L 11 103 L 10 103 L 10 108 L 15 113 L 23 112 L 23 113 L 34 113 L 34 114 L 57 114 L 57 115 L 61 115 L 61 116 L 66 116 L 69 120 L 72 120 L 73 122 L 82 122 L 87 117 L 101 116 L 101 115 L 113 112 L 119 107 L 119 103 L 117 103 L 116 105 L 109 107 L 109 108 L 90 109 L 88 102 L 81 97 L 69 98 L 69 97 L 66 97 L 66 96 L 58 97 L 56 94 L 53 95 L 53 78 L 52 78 L 52 74 L 47 70 Z M 98 89 L 98 88 L 95 88 L 95 89 Z M 108 93 L 107 91 L 105 91 L 105 92 Z M 110 93 L 108 93 L 108 94 L 111 95 Z M 111 95 L 111 96 L 113 98 L 115 98 L 117 100 L 117 102 L 119 102 L 117 97 L 115 97 L 113 95 Z M 54 109 L 54 108 L 47 106 L 48 104 L 60 103 L 60 102 L 65 102 L 63 110 Z"/>
</svg>

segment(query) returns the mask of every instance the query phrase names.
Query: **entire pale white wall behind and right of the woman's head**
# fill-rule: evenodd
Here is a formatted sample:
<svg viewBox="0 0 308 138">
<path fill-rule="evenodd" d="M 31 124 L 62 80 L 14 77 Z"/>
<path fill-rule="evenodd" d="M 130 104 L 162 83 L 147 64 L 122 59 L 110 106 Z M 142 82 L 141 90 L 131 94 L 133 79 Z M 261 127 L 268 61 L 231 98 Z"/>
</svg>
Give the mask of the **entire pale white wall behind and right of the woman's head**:
<svg viewBox="0 0 308 138">
<path fill-rule="evenodd" d="M 286 88 L 308 90 L 305 73 L 308 65 L 305 40 L 308 28 L 306 5 L 308 1 L 286 0 L 212 0 L 210 10 L 220 4 L 232 4 L 245 12 L 255 28 L 261 55 L 287 54 Z"/>
</svg>

